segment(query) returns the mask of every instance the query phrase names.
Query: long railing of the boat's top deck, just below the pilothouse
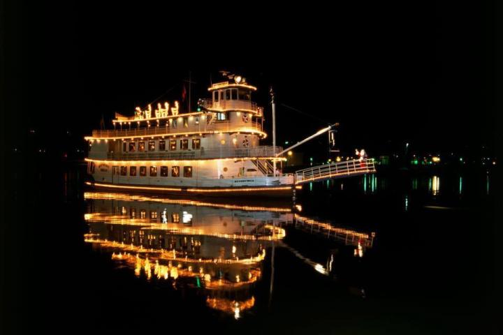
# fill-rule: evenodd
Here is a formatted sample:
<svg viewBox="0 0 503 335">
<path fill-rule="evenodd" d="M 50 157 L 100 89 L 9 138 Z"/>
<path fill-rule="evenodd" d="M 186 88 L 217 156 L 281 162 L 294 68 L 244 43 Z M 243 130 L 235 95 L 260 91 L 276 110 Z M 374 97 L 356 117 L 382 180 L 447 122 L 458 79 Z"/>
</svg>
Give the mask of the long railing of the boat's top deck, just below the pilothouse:
<svg viewBox="0 0 503 335">
<path fill-rule="evenodd" d="M 247 131 L 262 131 L 262 126 L 258 122 L 248 122 L 244 126 L 232 125 L 229 121 L 216 121 L 210 125 L 206 125 L 205 122 L 201 121 L 198 126 L 184 127 L 183 124 L 178 124 L 176 128 L 173 127 L 156 127 L 152 126 L 149 128 L 138 128 L 138 129 L 114 129 L 114 130 L 95 130 L 92 132 L 93 137 L 138 137 L 138 136 L 153 136 L 153 135 L 170 135 L 170 134 L 184 134 L 184 133 L 203 133 L 208 131 L 235 131 L 243 132 Z"/>
</svg>

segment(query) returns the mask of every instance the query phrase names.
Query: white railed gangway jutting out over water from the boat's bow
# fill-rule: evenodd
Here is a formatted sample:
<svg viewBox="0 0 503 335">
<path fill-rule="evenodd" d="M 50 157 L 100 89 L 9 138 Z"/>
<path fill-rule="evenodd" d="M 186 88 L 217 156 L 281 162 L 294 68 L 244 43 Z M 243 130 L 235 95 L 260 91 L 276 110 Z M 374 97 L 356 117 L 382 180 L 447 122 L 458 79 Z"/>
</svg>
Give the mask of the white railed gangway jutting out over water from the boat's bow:
<svg viewBox="0 0 503 335">
<path fill-rule="evenodd" d="M 324 164 L 296 171 L 296 184 L 374 172 L 373 158 Z"/>
</svg>

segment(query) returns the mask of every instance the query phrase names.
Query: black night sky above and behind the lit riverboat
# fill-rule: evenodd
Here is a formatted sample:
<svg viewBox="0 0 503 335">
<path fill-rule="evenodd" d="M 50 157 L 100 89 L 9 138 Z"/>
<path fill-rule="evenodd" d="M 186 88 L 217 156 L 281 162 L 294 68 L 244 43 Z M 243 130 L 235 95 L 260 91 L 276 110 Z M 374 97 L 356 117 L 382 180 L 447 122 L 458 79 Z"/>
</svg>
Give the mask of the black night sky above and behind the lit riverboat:
<svg viewBox="0 0 503 335">
<path fill-rule="evenodd" d="M 189 71 L 195 105 L 226 69 L 258 86 L 261 105 L 272 84 L 280 141 L 325 126 L 284 103 L 339 121 L 348 150 L 494 144 L 490 6 L 67 6 L 17 5 L 9 15 L 12 122 L 49 128 L 50 138 L 88 135 L 102 114 L 111 126 L 114 112 L 171 88 L 161 100 L 180 99 Z M 269 107 L 266 117 L 270 126 Z"/>
</svg>

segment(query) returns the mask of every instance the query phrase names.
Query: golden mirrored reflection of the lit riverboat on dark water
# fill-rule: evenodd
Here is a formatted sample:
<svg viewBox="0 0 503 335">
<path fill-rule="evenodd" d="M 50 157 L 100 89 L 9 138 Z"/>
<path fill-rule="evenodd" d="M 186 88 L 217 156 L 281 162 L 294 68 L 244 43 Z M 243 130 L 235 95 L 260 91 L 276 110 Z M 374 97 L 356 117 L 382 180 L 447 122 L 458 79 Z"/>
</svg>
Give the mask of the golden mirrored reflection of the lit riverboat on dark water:
<svg viewBox="0 0 503 335">
<path fill-rule="evenodd" d="M 154 198 L 129 193 L 85 193 L 85 241 L 110 251 L 112 259 L 149 281 L 166 281 L 204 290 L 206 305 L 239 318 L 256 301 L 254 284 L 262 276 L 270 246 L 286 247 L 321 274 L 320 265 L 284 244 L 286 228 L 311 225 L 350 246 L 371 247 L 370 234 L 337 228 L 293 213 L 289 207 L 247 206 Z M 323 235 L 320 235 L 323 236 Z M 323 236 L 324 238 L 324 236 Z"/>
</svg>

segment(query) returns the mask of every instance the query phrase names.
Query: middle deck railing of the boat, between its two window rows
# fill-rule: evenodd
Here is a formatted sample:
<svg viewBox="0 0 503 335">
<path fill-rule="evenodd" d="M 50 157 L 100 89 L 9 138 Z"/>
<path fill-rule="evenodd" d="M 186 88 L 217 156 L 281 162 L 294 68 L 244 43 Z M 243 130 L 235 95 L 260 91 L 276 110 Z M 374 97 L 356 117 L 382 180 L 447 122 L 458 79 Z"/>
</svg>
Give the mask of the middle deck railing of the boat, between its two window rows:
<svg viewBox="0 0 503 335">
<path fill-rule="evenodd" d="M 108 159 L 117 160 L 152 160 L 152 159 L 205 159 L 205 158 L 261 158 L 273 157 L 281 152 L 282 147 L 263 146 L 251 148 L 221 148 L 221 149 L 196 149 L 186 151 L 143 151 L 143 152 L 120 152 L 108 153 Z"/>
</svg>

